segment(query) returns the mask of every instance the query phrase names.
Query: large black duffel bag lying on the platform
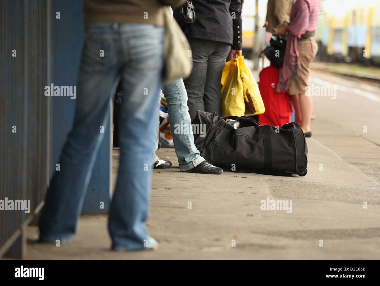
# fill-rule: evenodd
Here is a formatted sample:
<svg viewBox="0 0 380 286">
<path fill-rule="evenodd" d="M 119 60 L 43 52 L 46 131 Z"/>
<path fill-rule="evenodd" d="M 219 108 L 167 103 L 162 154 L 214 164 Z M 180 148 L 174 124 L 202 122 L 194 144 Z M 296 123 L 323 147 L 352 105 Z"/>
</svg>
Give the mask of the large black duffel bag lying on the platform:
<svg viewBox="0 0 380 286">
<path fill-rule="evenodd" d="M 234 123 L 239 124 L 237 129 Z M 306 140 L 297 123 L 287 123 L 282 128 L 260 126 L 251 117 L 223 119 L 198 110 L 192 124 L 196 124 L 193 129 L 198 126 L 198 130 L 203 130 L 194 134 L 200 155 L 225 171 L 285 176 L 307 173 Z"/>
</svg>

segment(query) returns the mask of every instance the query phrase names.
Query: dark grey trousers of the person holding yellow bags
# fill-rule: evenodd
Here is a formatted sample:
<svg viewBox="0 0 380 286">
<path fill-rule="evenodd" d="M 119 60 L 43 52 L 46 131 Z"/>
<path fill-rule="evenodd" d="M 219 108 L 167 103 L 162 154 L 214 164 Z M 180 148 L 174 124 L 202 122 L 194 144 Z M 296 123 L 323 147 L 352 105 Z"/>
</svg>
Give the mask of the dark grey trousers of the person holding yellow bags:
<svg viewBox="0 0 380 286">
<path fill-rule="evenodd" d="M 188 38 L 188 41 L 192 50 L 193 70 L 184 83 L 190 118 L 194 119 L 197 110 L 216 112 L 220 116 L 220 79 L 231 44 L 198 38 Z"/>
</svg>

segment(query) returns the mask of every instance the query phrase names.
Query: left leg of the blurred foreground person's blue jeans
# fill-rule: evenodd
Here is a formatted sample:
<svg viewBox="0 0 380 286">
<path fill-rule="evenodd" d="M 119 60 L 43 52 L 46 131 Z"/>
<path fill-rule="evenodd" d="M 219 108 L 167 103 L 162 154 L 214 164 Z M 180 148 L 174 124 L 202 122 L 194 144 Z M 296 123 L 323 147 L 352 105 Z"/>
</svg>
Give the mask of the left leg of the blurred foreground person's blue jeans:
<svg viewBox="0 0 380 286">
<path fill-rule="evenodd" d="M 90 27 L 90 26 L 87 26 Z M 95 31 L 96 30 L 96 31 Z M 40 241 L 70 239 L 77 228 L 98 149 L 107 128 L 118 77 L 117 47 L 107 29 L 86 28 L 79 70 L 75 119 L 41 213 Z M 104 58 L 99 50 L 107 47 Z"/>
</svg>

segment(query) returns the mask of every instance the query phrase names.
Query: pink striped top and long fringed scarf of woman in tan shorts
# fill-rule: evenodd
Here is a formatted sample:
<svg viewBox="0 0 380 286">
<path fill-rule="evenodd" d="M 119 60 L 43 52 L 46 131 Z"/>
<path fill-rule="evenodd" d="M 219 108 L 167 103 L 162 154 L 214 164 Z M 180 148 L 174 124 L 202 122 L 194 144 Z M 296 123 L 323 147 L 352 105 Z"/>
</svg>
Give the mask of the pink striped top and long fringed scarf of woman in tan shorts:
<svg viewBox="0 0 380 286">
<path fill-rule="evenodd" d="M 297 39 L 306 31 L 314 31 L 317 28 L 318 16 L 321 10 L 320 0 L 297 0 L 291 6 L 290 28 L 285 48 L 285 57 L 279 70 L 279 83 L 277 92 L 285 92 L 288 79 L 299 76 L 299 53 Z"/>
</svg>

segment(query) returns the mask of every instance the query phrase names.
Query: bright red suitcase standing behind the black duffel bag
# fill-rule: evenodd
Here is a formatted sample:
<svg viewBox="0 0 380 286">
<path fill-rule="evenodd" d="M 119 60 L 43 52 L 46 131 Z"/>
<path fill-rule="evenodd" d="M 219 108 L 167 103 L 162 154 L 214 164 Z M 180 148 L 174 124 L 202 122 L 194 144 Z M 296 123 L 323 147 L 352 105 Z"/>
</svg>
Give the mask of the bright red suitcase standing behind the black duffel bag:
<svg viewBox="0 0 380 286">
<path fill-rule="evenodd" d="M 263 98 L 265 112 L 258 115 L 260 125 L 280 126 L 291 121 L 293 113 L 288 93 L 276 92 L 279 81 L 279 69 L 268 66 L 260 72 L 259 89 Z"/>
</svg>

